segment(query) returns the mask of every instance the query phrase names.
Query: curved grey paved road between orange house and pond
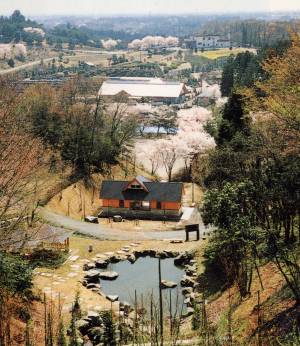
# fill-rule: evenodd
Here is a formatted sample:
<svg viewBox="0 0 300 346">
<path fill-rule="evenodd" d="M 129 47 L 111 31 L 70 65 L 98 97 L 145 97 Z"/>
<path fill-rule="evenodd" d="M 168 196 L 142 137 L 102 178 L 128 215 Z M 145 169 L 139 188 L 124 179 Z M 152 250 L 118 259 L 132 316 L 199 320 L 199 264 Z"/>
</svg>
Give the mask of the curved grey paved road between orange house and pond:
<svg viewBox="0 0 300 346">
<path fill-rule="evenodd" d="M 179 231 L 125 231 L 117 228 L 117 224 L 103 226 L 74 220 L 68 216 L 55 214 L 49 210 L 41 209 L 41 216 L 49 223 L 58 227 L 77 231 L 85 235 L 91 235 L 100 239 L 109 240 L 162 240 L 162 239 L 185 239 L 185 232 Z M 200 224 L 200 231 L 207 231 L 204 225 Z"/>
</svg>

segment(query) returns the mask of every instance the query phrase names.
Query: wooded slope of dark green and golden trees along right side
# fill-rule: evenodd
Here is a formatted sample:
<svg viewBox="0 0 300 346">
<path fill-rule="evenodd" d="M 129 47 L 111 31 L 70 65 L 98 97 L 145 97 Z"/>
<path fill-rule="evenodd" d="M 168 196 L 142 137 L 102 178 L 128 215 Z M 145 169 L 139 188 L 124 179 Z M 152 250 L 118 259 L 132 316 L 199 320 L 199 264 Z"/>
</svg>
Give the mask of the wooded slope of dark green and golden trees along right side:
<svg viewBox="0 0 300 346">
<path fill-rule="evenodd" d="M 217 230 L 205 250 L 203 279 L 208 275 L 208 286 L 209 280 L 219 282 L 221 291 L 236 287 L 239 298 L 230 307 L 231 314 L 256 293 L 252 288 L 255 277 L 256 289 L 264 292 L 262 271 L 272 264 L 274 275 L 278 272 L 284 280 L 281 302 L 291 301 L 289 313 L 294 309 L 299 317 L 300 39 L 298 34 L 292 37 L 291 47 L 282 55 L 262 61 L 264 78 L 254 78 L 249 85 L 233 81 L 228 102 L 215 120 L 217 147 L 204 170 L 207 192 L 202 215 Z M 239 61 L 237 57 L 237 66 Z M 197 169 L 194 174 L 200 178 Z M 211 294 L 209 289 L 205 294 Z M 258 304 L 263 309 L 267 303 Z M 296 345 L 299 320 L 283 318 L 281 322 L 291 333 L 290 344 Z M 259 337 L 258 345 L 277 345 L 280 337 L 274 337 L 271 329 L 283 328 L 280 320 L 259 323 L 252 329 L 249 344 Z M 238 334 L 232 329 L 230 338 Z M 286 335 L 282 338 L 287 342 Z"/>
</svg>

